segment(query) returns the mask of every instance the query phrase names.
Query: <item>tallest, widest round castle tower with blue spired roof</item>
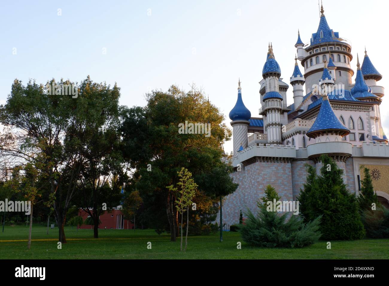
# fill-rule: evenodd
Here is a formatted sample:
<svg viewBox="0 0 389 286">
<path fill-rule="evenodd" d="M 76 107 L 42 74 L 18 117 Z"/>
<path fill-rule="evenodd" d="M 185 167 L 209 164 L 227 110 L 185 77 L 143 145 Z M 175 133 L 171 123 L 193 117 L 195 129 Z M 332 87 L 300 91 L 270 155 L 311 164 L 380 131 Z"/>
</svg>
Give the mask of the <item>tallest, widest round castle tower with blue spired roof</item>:
<svg viewBox="0 0 389 286">
<path fill-rule="evenodd" d="M 328 52 L 334 57 L 333 63 L 336 65 L 336 76 L 331 72 L 331 77 L 336 78 L 337 82 L 342 82 L 345 89 L 350 89 L 354 71 L 350 67 L 352 60 L 351 44 L 348 40 L 339 37 L 338 32 L 334 32 L 324 16 L 324 9 L 321 6 L 321 16 L 319 27 L 316 33 L 312 34 L 309 45 L 301 47 L 297 45 L 298 60 L 304 67 L 305 92 L 308 94 L 314 89 L 315 84 L 319 81 L 324 67 L 324 60 L 329 63 Z"/>
</svg>

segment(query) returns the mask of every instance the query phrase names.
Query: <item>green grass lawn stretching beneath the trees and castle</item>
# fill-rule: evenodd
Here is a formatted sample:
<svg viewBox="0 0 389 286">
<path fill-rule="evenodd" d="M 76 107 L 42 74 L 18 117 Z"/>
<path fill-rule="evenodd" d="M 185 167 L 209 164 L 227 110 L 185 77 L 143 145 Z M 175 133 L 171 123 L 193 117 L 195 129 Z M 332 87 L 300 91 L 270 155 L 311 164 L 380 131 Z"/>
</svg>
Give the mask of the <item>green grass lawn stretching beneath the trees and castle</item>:
<svg viewBox="0 0 389 286">
<path fill-rule="evenodd" d="M 93 239 L 92 230 L 66 227 L 67 244 L 57 249 L 58 228 L 33 226 L 32 246 L 27 249 L 28 227 L 0 228 L 0 258 L 2 259 L 387 259 L 389 239 L 362 239 L 355 241 L 319 241 L 302 249 L 251 247 L 242 241 L 238 232 L 223 232 L 206 236 L 188 237 L 186 253 L 180 252 L 180 240 L 170 242 L 168 234 L 158 235 L 154 230 L 99 230 L 99 239 Z M 74 239 L 74 240 L 73 240 Z M 185 238 L 184 238 L 185 239 Z M 237 242 L 242 249 L 237 249 Z M 152 249 L 147 249 L 147 242 Z"/>
</svg>

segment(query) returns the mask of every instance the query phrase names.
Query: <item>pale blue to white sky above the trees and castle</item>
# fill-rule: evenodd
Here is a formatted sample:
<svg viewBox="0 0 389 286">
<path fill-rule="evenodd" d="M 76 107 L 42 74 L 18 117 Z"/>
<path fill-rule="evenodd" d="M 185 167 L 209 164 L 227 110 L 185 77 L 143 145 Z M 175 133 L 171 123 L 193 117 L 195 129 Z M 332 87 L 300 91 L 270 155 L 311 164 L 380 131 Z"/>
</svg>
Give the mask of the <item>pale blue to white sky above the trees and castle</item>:
<svg viewBox="0 0 389 286">
<path fill-rule="evenodd" d="M 324 0 L 329 27 L 352 43 L 351 67 L 364 46 L 387 87 L 388 1 Z M 5 1 L 0 2 L 0 104 L 14 79 L 26 84 L 90 75 L 121 88 L 120 104 L 146 104 L 152 89 L 195 83 L 225 115 L 237 100 L 259 116 L 259 81 L 272 42 L 281 77 L 293 73 L 297 31 L 308 42 L 319 25 L 317 0 L 299 1 Z M 300 70 L 303 68 L 300 66 Z M 353 82 L 355 75 L 353 76 Z M 293 88 L 287 104 L 293 103 Z M 389 96 L 389 95 L 387 95 Z M 386 96 L 386 97 L 387 97 Z M 389 98 L 380 110 L 389 135 Z M 224 144 L 232 151 L 232 140 Z"/>
</svg>

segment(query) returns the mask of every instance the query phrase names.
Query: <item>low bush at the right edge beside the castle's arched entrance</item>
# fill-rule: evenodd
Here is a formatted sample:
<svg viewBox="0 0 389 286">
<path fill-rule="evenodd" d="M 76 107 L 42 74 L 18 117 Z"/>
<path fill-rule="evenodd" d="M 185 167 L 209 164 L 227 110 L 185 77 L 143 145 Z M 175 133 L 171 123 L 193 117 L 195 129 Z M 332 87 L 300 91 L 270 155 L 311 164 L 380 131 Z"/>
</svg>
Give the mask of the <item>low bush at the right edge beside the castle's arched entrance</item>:
<svg viewBox="0 0 389 286">
<path fill-rule="evenodd" d="M 380 205 L 375 211 L 366 210 L 362 214 L 366 235 L 371 238 L 389 238 L 389 209 Z"/>
</svg>

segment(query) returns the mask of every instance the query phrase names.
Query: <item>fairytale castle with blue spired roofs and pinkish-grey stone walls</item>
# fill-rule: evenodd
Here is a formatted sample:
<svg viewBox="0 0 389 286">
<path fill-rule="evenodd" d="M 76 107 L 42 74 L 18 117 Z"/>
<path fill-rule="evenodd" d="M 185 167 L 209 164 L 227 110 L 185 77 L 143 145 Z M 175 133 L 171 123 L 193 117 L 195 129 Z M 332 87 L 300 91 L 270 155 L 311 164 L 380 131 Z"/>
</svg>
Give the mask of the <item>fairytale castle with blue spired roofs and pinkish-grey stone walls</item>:
<svg viewBox="0 0 389 286">
<path fill-rule="evenodd" d="M 295 47 L 292 104 L 287 104 L 289 85 L 280 78 L 270 44 L 259 82 L 262 117 L 251 117 L 238 82 L 238 99 L 229 114 L 233 128 L 229 161 L 239 186 L 223 202 L 227 225 L 238 223 L 240 210 L 256 212 L 268 184 L 281 200 L 296 200 L 306 181 L 306 164 L 319 172 L 321 154 L 328 154 L 344 170 L 343 180 L 352 193 L 358 194 L 361 187 L 360 167 L 369 168 L 378 199 L 389 206 L 389 145 L 380 120 L 384 88 L 377 85 L 382 75 L 365 48 L 362 65 L 357 56 L 352 82 L 351 44 L 329 28 L 323 6 L 317 32 L 307 44 L 298 32 Z"/>
</svg>

